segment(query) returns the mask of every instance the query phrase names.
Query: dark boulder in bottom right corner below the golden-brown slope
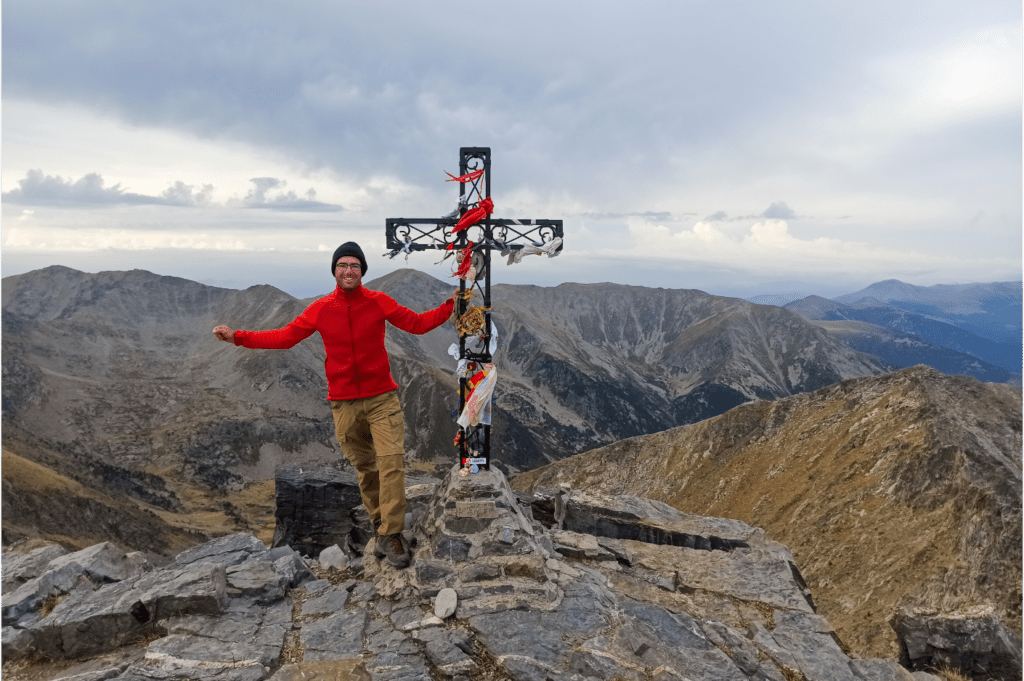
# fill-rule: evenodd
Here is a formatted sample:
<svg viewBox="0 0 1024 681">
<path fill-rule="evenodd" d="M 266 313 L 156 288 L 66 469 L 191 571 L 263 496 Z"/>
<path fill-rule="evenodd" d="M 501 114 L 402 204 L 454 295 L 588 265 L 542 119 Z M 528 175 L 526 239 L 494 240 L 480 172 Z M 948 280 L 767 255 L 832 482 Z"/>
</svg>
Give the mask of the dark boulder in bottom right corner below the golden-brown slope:
<svg viewBox="0 0 1024 681">
<path fill-rule="evenodd" d="M 950 667 L 973 677 L 1021 678 L 1021 637 L 991 607 L 939 613 L 902 608 L 890 621 L 900 644 L 900 664 L 914 671 Z"/>
</svg>

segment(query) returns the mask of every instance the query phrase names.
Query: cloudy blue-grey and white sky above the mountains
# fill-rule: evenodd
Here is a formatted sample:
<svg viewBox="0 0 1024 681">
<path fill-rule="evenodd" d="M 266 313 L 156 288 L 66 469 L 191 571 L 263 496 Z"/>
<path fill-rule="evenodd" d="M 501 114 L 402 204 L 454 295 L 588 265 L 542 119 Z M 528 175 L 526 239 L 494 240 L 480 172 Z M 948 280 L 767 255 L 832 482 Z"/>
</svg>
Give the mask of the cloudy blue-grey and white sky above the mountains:
<svg viewBox="0 0 1024 681">
<path fill-rule="evenodd" d="M 1019 0 L 2 5 L 3 274 L 293 295 L 437 278 L 388 217 L 560 218 L 495 281 L 722 295 L 1020 281 Z"/>
</svg>

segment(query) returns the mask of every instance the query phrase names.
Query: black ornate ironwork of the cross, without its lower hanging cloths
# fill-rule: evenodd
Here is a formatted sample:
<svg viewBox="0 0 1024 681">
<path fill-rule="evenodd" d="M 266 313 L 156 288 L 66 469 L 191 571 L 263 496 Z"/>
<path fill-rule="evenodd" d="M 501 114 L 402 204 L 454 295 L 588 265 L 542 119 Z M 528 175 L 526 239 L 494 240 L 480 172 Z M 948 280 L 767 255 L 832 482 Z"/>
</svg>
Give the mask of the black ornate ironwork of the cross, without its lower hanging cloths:
<svg viewBox="0 0 1024 681">
<path fill-rule="evenodd" d="M 459 334 L 460 369 L 476 364 L 483 367 L 490 364 L 493 328 L 490 321 L 490 252 L 500 251 L 509 257 L 521 257 L 524 248 L 531 247 L 529 252 L 544 250 L 548 255 L 555 255 L 562 250 L 561 220 L 511 220 L 492 218 L 489 211 L 479 221 L 468 227 L 454 231 L 467 212 L 483 212 L 481 204 L 489 206 L 490 202 L 490 147 L 463 146 L 459 150 L 459 206 L 449 215 L 439 218 L 388 218 L 387 248 L 392 258 L 399 253 L 407 257 L 413 251 L 456 251 L 465 257 L 472 258 L 472 270 L 469 276 L 459 280 L 460 298 L 457 301 L 456 312 L 460 318 L 469 308 L 470 294 L 474 290 L 483 297 L 483 326 L 476 334 Z M 449 180 L 452 181 L 452 180 Z M 486 203 L 484 203 L 486 202 Z M 472 218 L 472 213 L 469 216 Z M 472 235 L 475 239 L 470 239 Z M 558 240 L 557 242 L 555 240 Z M 470 246 L 471 245 L 471 246 Z M 469 250 L 467 250 L 469 249 Z M 475 270 L 475 271 L 473 271 Z M 481 286 L 482 280 L 482 286 Z M 468 284 L 468 288 L 467 288 Z M 469 395 L 467 387 L 472 376 L 462 374 L 459 378 L 459 410 L 460 414 L 466 407 Z M 468 425 L 459 427 L 456 437 L 459 446 L 459 458 L 464 467 L 472 465 L 486 470 L 490 467 L 490 425 Z"/>
</svg>

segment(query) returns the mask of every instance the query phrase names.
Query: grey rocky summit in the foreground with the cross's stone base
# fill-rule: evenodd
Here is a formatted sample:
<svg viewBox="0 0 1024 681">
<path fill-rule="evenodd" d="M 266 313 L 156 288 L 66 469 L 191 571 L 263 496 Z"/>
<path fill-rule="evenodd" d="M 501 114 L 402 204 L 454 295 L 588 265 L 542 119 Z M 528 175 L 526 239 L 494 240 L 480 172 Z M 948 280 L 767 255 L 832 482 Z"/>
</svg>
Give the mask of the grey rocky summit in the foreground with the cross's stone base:
<svg viewBox="0 0 1024 681">
<path fill-rule="evenodd" d="M 7 553 L 4 678 L 938 678 L 851 657 L 792 552 L 743 522 L 516 494 L 494 467 L 429 486 L 404 570 L 370 546 L 311 559 L 246 533 L 161 566 L 110 544 Z"/>
</svg>

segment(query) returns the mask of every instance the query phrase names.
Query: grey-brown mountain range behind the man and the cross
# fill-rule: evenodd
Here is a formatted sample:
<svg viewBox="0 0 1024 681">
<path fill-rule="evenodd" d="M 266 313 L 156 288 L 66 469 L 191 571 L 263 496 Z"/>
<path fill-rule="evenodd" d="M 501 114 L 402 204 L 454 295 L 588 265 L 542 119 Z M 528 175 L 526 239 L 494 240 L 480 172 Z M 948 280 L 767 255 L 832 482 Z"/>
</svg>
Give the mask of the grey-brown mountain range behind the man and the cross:
<svg viewBox="0 0 1024 681">
<path fill-rule="evenodd" d="M 414 269 L 368 286 L 418 311 L 454 288 Z M 847 317 L 809 321 L 700 291 L 565 284 L 502 285 L 493 294 L 499 380 L 492 454 L 512 473 L 898 364 L 859 351 L 862 329 L 844 336 L 834 328 L 854 324 Z M 249 350 L 216 341 L 211 330 L 280 328 L 312 300 L 269 286 L 236 291 L 142 270 L 90 274 L 54 266 L 5 278 L 5 457 L 27 462 L 17 470 L 52 471 L 67 488 L 106 495 L 102 503 L 116 506 L 119 518 L 137 511 L 131 505 L 144 509 L 132 537 L 157 537 L 152 526 L 161 518 L 182 525 L 167 540 L 176 545 L 188 531 L 206 531 L 183 526 L 185 512 L 243 526 L 250 502 L 265 517 L 259 495 L 246 497 L 249 485 L 271 479 L 281 463 L 341 456 L 325 400 L 323 343 L 314 335 L 291 350 Z M 885 330 L 870 329 L 872 338 Z M 894 345 L 919 347 L 886 333 Z M 455 458 L 458 384 L 447 349 L 456 341 L 450 325 L 425 336 L 387 335 L 414 470 L 443 469 Z M 964 363 L 981 361 L 962 354 L 971 357 Z M 1002 379 L 995 365 L 980 366 Z M 37 473 L 33 484 L 45 487 Z M 26 527 L 40 531 L 49 522 L 40 519 L 48 517 L 45 505 L 20 529 L 10 524 L 24 505 L 7 469 L 4 476 L 4 541 Z M 90 499 L 87 505 L 99 503 Z M 61 522 L 46 531 L 60 533 Z M 119 520 L 103 531 L 116 538 L 129 525 Z M 167 542 L 146 548 L 167 552 Z"/>
</svg>

